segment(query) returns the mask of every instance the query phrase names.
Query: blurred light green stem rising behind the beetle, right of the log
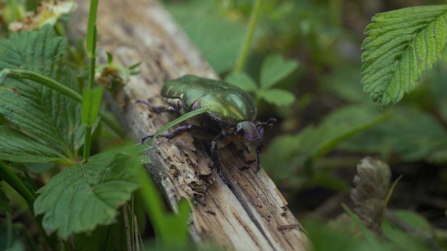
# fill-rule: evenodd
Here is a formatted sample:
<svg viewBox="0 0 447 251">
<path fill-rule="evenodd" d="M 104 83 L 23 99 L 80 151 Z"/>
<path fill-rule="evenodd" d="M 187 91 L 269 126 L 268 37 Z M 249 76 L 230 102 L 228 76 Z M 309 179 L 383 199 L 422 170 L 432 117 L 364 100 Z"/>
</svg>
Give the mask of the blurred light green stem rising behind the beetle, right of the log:
<svg viewBox="0 0 447 251">
<path fill-rule="evenodd" d="M 247 33 L 245 35 L 244 43 L 237 58 L 236 65 L 234 66 L 234 72 L 240 72 L 247 61 L 248 52 L 250 51 L 253 35 L 256 30 L 256 24 L 258 23 L 259 16 L 261 14 L 261 6 L 263 0 L 256 0 L 251 11 L 250 21 L 248 22 Z"/>
</svg>

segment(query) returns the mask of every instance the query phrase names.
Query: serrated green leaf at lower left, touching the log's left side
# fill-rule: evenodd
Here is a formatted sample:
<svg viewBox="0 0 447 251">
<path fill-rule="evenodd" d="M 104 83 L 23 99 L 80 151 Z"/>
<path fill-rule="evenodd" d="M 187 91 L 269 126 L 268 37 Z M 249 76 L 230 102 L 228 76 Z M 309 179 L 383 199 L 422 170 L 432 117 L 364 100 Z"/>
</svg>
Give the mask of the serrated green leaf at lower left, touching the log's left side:
<svg viewBox="0 0 447 251">
<path fill-rule="evenodd" d="M 113 223 L 116 209 L 139 187 L 136 167 L 148 161 L 140 155 L 147 149 L 144 145 L 120 147 L 55 175 L 37 191 L 40 195 L 34 203 L 34 213 L 44 214 L 45 230 L 67 239 Z"/>
</svg>

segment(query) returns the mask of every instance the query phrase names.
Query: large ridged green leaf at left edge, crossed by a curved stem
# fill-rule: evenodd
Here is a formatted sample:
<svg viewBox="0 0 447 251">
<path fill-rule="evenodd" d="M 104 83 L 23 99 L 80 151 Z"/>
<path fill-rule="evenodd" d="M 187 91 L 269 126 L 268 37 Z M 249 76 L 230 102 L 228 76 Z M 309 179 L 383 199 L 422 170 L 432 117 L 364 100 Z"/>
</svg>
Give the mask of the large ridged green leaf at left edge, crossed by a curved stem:
<svg viewBox="0 0 447 251">
<path fill-rule="evenodd" d="M 75 73 L 61 64 L 66 47 L 50 25 L 12 34 L 0 40 L 0 70 L 32 70 L 78 92 Z M 4 118 L 66 156 L 73 156 L 83 142 L 80 112 L 75 100 L 30 80 L 8 78 L 0 86 Z"/>
</svg>

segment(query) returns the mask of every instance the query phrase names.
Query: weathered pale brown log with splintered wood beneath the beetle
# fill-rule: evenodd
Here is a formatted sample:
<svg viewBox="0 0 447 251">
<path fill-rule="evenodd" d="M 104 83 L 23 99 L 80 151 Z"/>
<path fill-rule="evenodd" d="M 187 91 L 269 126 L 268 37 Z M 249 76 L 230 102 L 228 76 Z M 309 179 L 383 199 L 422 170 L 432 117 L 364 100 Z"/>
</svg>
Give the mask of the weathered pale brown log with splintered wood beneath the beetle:
<svg viewBox="0 0 447 251">
<path fill-rule="evenodd" d="M 88 1 L 78 0 L 73 32 L 86 33 Z M 218 78 L 162 5 L 153 0 L 102 0 L 98 8 L 98 50 L 130 65 L 143 62 L 141 74 L 126 85 L 119 107 L 136 141 L 153 133 L 173 115 L 157 115 L 136 100 L 162 105 L 162 84 L 184 74 Z M 216 48 L 218 49 L 218 48 Z M 268 132 L 267 132 L 268 133 Z M 217 243 L 225 250 L 306 251 L 307 237 L 288 203 L 267 174 L 255 173 L 254 146 L 220 150 L 226 186 L 212 167 L 206 146 L 184 133 L 156 139 L 147 165 L 173 210 L 177 201 L 193 201 L 190 234 L 196 242 Z M 241 167 L 249 169 L 242 170 Z"/>
</svg>

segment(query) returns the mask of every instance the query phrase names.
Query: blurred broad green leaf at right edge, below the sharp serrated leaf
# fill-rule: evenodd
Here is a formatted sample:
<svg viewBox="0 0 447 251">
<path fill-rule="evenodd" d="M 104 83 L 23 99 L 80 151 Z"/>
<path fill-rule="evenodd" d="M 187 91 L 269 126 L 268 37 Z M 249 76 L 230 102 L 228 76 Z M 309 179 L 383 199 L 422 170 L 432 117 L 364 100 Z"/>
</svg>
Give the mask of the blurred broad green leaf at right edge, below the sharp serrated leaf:
<svg viewBox="0 0 447 251">
<path fill-rule="evenodd" d="M 389 111 L 389 120 L 343 142 L 339 149 L 391 155 L 405 161 L 430 159 L 447 146 L 447 131 L 430 114 L 411 106 L 400 105 Z"/>
</svg>

